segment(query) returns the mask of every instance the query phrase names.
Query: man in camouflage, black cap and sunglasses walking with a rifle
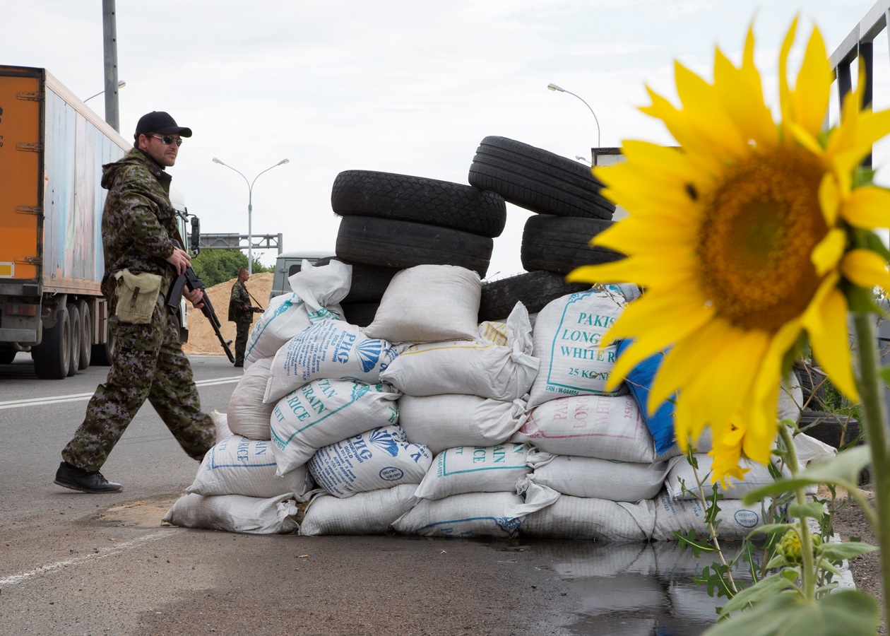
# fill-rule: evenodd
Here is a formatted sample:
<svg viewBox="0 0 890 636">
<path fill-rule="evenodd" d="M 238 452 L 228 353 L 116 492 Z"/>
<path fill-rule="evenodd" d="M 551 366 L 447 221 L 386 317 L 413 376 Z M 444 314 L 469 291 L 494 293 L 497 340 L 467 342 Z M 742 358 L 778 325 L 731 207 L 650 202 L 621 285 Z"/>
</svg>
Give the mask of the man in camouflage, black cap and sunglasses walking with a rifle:
<svg viewBox="0 0 890 636">
<path fill-rule="evenodd" d="M 102 212 L 105 275 L 102 293 L 109 302 L 109 329 L 116 345 L 108 379 L 86 407 L 84 422 L 62 450 L 55 483 L 85 493 L 114 493 L 99 469 L 148 399 L 183 450 L 200 461 L 214 444 L 214 426 L 201 412 L 189 360 L 182 353 L 179 326 L 166 306 L 166 291 L 185 272 L 190 256 L 170 203 L 173 166 L 182 137 L 166 112 L 154 111 L 136 125 L 135 148 L 102 168 L 109 191 Z M 183 295 L 200 307 L 201 291 Z"/>
</svg>

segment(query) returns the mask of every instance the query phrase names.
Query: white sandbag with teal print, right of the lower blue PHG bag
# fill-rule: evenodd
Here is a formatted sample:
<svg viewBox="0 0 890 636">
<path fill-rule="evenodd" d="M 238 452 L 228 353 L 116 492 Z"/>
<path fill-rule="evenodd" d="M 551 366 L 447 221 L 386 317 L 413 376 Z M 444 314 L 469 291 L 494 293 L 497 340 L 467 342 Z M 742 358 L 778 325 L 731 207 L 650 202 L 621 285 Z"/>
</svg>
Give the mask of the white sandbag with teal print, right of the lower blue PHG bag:
<svg viewBox="0 0 890 636">
<path fill-rule="evenodd" d="M 463 493 L 514 493 L 516 482 L 528 475 L 529 444 L 447 448 L 433 461 L 417 487 L 418 499 L 444 499 Z"/>
</svg>

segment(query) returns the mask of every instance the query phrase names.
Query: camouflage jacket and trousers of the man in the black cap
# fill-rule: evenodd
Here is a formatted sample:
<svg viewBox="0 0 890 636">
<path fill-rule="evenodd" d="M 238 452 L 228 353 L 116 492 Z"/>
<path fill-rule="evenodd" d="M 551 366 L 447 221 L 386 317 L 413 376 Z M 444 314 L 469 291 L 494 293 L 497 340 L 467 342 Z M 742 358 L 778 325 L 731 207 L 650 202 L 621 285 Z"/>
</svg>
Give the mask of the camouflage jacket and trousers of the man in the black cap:
<svg viewBox="0 0 890 636">
<path fill-rule="evenodd" d="M 184 245 L 169 198 L 171 177 L 137 149 L 102 168 L 101 184 L 109 191 L 102 212 L 102 293 L 109 300 L 109 329 L 117 341 L 108 379 L 96 388 L 62 459 L 87 471 L 101 469 L 148 399 L 185 452 L 201 460 L 214 444 L 214 426 L 201 412 L 176 315 L 166 307 L 166 291 L 175 276 L 166 258 L 174 251 L 172 239 Z M 114 315 L 114 274 L 125 268 L 162 276 L 149 324 L 124 324 Z"/>
</svg>

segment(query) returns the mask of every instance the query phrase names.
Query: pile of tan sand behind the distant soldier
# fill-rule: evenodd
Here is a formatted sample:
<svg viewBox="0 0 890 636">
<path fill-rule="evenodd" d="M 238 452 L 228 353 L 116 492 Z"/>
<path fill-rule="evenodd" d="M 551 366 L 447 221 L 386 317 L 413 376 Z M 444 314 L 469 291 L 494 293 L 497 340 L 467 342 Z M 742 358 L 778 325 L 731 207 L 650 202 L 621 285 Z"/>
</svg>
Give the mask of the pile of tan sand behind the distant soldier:
<svg viewBox="0 0 890 636">
<path fill-rule="evenodd" d="M 247 281 L 247 291 L 255 298 L 253 304 L 265 308 L 269 306 L 269 292 L 272 289 L 271 272 L 255 273 L 250 276 Z M 207 296 L 214 306 L 216 316 L 220 319 L 220 331 L 223 332 L 223 338 L 231 340 L 232 354 L 235 353 L 235 323 L 229 322 L 229 298 L 231 298 L 231 286 L 235 284 L 237 279 L 221 282 L 207 289 Z M 259 314 L 256 314 L 257 316 Z M 182 346 L 186 354 L 200 355 L 225 355 L 223 345 L 216 338 L 213 327 L 207 321 L 206 316 L 200 309 L 189 306 L 189 342 Z"/>
</svg>

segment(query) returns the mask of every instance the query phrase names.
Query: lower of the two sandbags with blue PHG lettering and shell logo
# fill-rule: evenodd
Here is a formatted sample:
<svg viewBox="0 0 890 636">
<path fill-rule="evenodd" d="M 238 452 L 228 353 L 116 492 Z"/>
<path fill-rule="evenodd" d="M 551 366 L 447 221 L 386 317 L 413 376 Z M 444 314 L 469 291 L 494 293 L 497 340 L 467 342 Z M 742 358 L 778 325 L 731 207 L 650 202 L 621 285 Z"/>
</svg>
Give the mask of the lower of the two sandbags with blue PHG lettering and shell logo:
<svg viewBox="0 0 890 636">
<path fill-rule="evenodd" d="M 379 427 L 322 446 L 309 460 L 315 482 L 336 497 L 419 484 L 433 454 L 426 446 L 410 444 L 398 424 Z"/>
</svg>

